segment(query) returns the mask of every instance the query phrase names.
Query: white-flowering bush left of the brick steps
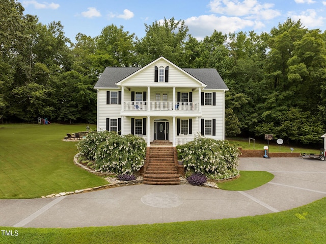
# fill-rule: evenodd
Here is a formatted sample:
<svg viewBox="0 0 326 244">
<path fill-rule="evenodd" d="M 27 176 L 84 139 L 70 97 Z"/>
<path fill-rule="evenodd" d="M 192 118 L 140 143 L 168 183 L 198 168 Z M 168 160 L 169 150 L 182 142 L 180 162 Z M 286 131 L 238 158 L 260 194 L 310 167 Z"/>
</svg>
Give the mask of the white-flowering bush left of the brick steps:
<svg viewBox="0 0 326 244">
<path fill-rule="evenodd" d="M 143 138 L 117 132 L 90 132 L 77 144 L 83 158 L 93 160 L 99 172 L 132 174 L 144 165 L 146 142 Z"/>
</svg>

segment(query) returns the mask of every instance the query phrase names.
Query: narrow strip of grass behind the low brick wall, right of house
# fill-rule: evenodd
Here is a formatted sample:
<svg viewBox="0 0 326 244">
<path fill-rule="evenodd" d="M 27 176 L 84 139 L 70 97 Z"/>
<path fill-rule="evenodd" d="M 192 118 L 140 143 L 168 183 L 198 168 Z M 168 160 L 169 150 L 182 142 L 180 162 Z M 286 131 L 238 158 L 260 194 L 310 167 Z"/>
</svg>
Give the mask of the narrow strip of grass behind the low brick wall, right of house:
<svg viewBox="0 0 326 244">
<path fill-rule="evenodd" d="M 237 146 L 237 147 L 241 147 L 244 150 L 264 150 L 264 146 L 267 146 L 267 142 L 261 142 L 258 140 L 255 140 L 255 148 L 254 148 L 254 143 L 251 140 L 250 141 L 250 145 L 248 142 L 248 139 L 246 140 L 241 140 L 241 139 L 227 139 L 231 144 Z M 303 147 L 296 147 L 296 146 L 292 146 L 292 145 L 287 145 L 287 144 L 282 144 L 281 145 L 281 152 L 291 152 L 290 148 L 293 148 L 294 151 L 293 152 L 306 152 L 306 153 L 319 153 L 320 150 L 319 149 L 307 149 L 307 148 L 303 148 Z M 276 143 L 276 141 L 270 141 L 269 142 L 269 152 L 280 152 L 280 145 Z"/>
</svg>

